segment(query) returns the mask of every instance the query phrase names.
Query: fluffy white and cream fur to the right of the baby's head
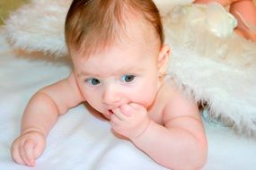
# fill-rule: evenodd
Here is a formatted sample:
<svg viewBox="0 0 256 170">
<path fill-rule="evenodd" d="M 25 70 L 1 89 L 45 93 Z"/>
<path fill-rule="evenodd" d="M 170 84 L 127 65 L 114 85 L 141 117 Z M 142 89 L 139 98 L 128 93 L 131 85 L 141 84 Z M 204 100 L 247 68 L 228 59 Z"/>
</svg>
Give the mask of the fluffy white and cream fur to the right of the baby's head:
<svg viewBox="0 0 256 170">
<path fill-rule="evenodd" d="M 256 43 L 235 34 L 220 4 L 178 6 L 163 22 L 181 88 L 236 132 L 256 134 Z"/>
</svg>

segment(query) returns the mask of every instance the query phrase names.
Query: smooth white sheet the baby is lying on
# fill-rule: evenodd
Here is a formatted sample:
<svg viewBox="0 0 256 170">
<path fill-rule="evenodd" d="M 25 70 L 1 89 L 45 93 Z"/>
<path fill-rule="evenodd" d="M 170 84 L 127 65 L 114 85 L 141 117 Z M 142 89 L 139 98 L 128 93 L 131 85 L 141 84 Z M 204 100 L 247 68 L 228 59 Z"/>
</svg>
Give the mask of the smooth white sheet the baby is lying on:
<svg viewBox="0 0 256 170">
<path fill-rule="evenodd" d="M 28 55 L 13 51 L 4 40 L 3 30 L 0 31 L 0 169 L 165 169 L 129 141 L 115 137 L 110 132 L 110 124 L 91 114 L 85 105 L 76 106 L 59 118 L 35 168 L 13 162 L 9 149 L 20 133 L 22 111 L 31 95 L 66 77 L 69 72 L 68 62 L 40 53 Z M 206 131 L 209 149 L 207 165 L 203 169 L 256 167 L 255 139 L 236 135 L 215 123 L 206 123 Z"/>
</svg>

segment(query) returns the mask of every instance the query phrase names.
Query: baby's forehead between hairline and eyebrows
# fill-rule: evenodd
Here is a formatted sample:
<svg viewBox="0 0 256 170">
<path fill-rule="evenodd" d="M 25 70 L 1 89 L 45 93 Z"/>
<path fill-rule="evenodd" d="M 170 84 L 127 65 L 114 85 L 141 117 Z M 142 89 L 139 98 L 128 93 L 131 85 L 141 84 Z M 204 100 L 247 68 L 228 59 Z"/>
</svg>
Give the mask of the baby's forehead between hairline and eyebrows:
<svg viewBox="0 0 256 170">
<path fill-rule="evenodd" d="M 126 41 L 119 42 L 111 47 L 97 47 L 91 53 L 88 51 L 80 51 L 80 53 L 73 53 L 73 62 L 81 66 L 84 64 L 98 64 L 104 62 L 109 63 L 126 63 L 132 61 L 134 63 L 144 63 L 145 59 L 155 58 L 155 61 L 159 55 L 159 47 L 150 46 L 144 40 L 128 39 Z M 78 58 L 78 59 L 75 59 Z M 80 64 L 84 63 L 84 64 Z"/>
</svg>

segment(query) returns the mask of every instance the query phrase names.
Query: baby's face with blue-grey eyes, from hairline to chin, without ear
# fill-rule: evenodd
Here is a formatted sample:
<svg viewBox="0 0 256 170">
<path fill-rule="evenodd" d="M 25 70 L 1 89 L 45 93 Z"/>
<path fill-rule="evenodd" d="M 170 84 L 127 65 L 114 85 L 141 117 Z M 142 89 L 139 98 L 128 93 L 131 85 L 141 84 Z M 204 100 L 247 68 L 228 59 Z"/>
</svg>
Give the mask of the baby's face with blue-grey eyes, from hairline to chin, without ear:
<svg viewBox="0 0 256 170">
<path fill-rule="evenodd" d="M 89 58 L 74 54 L 75 75 L 84 98 L 107 118 L 111 109 L 124 104 L 152 105 L 159 88 L 158 53 L 155 47 L 135 42 Z"/>
</svg>

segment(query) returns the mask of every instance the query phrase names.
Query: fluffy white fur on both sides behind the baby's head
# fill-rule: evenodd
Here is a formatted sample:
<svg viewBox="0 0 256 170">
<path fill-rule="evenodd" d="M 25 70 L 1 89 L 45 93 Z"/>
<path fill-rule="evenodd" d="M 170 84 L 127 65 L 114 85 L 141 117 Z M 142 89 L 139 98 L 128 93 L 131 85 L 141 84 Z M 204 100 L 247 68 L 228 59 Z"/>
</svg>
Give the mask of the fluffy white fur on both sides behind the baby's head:
<svg viewBox="0 0 256 170">
<path fill-rule="evenodd" d="M 70 2 L 34 0 L 13 13 L 5 24 L 13 47 L 66 55 L 64 21 Z M 223 17 L 210 17 L 218 12 Z M 256 43 L 226 28 L 227 16 L 216 5 L 187 5 L 166 14 L 165 36 L 172 47 L 169 73 L 186 94 L 207 103 L 213 118 L 236 132 L 252 134 L 256 132 Z"/>
</svg>

